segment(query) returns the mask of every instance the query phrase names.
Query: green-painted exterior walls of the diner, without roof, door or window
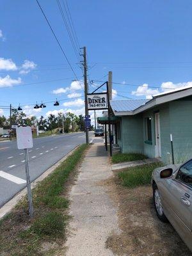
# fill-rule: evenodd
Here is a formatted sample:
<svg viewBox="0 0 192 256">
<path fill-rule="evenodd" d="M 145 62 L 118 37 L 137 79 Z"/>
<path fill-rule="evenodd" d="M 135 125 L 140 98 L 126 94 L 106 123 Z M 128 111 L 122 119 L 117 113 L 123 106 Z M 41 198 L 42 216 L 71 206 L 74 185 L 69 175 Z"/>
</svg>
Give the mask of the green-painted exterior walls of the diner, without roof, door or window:
<svg viewBox="0 0 192 256">
<path fill-rule="evenodd" d="M 171 163 L 170 133 L 173 135 L 175 163 L 192 158 L 192 97 L 163 104 L 140 115 L 122 116 L 121 139 L 123 153 L 141 152 L 155 157 L 155 113 L 159 111 L 161 131 L 161 161 Z M 152 145 L 146 143 L 145 118 L 152 118 Z"/>
</svg>

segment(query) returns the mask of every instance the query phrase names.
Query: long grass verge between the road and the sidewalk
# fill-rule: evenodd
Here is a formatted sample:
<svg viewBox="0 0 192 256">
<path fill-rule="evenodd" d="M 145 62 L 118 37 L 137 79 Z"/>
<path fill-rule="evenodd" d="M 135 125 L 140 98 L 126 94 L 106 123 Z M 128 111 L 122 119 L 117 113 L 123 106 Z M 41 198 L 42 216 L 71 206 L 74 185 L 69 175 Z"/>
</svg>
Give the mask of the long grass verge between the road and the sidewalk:
<svg viewBox="0 0 192 256">
<path fill-rule="evenodd" d="M 29 220 L 28 200 L 19 202 L 11 214 L 0 221 L 0 255 L 52 255 L 52 246 L 40 250 L 43 243 L 63 243 L 68 221 L 66 182 L 84 156 L 88 146 L 81 145 L 54 172 L 33 189 L 35 218 Z M 74 175 L 74 174 L 72 174 Z"/>
</svg>

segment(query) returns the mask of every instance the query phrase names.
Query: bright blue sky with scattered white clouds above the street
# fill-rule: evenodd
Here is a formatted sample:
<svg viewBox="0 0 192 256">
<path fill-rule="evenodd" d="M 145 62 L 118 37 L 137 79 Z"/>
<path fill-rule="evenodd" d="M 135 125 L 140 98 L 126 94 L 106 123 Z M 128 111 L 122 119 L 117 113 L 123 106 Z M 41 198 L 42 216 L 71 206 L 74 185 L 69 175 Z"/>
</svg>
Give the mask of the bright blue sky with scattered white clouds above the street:
<svg viewBox="0 0 192 256">
<path fill-rule="evenodd" d="M 58 2 L 38 1 L 74 72 L 36 0 L 1 0 L 0 115 L 8 115 L 2 106 L 10 104 L 15 108 L 20 104 L 26 115 L 38 117 L 58 111 L 84 115 L 82 65 Z M 59 3 L 67 19 L 66 0 Z M 109 71 L 114 100 L 150 99 L 169 89 L 192 86 L 191 0 L 67 3 L 77 46 L 87 49 L 89 92 L 108 79 Z M 60 106 L 53 106 L 56 99 Z M 36 102 L 45 102 L 46 108 L 34 109 Z"/>
</svg>

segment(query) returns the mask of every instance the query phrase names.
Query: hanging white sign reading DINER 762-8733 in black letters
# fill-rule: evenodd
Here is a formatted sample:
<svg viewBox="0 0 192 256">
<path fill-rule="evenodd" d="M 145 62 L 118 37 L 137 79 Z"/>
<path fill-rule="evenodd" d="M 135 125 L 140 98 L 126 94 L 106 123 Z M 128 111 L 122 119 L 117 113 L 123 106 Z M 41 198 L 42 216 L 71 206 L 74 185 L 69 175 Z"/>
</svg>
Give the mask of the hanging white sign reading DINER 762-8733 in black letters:
<svg viewBox="0 0 192 256">
<path fill-rule="evenodd" d="M 88 93 L 88 110 L 108 109 L 108 94 L 104 93 Z"/>
</svg>

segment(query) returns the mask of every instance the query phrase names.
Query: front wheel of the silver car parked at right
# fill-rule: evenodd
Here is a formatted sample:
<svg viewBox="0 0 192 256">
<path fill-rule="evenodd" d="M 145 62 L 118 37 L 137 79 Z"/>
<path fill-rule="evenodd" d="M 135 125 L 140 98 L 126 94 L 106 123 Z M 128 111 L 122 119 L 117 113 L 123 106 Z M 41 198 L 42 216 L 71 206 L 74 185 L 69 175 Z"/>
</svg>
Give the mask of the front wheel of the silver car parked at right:
<svg viewBox="0 0 192 256">
<path fill-rule="evenodd" d="M 153 185 L 153 195 L 154 195 L 154 207 L 156 209 L 157 217 L 159 218 L 159 220 L 161 220 L 163 222 L 168 222 L 168 219 L 166 218 L 166 216 L 164 215 L 164 212 L 163 212 L 161 196 L 160 196 L 159 189 L 157 188 L 156 184 Z"/>
</svg>

